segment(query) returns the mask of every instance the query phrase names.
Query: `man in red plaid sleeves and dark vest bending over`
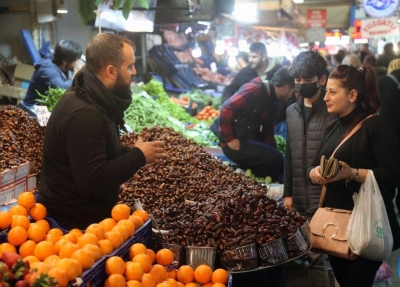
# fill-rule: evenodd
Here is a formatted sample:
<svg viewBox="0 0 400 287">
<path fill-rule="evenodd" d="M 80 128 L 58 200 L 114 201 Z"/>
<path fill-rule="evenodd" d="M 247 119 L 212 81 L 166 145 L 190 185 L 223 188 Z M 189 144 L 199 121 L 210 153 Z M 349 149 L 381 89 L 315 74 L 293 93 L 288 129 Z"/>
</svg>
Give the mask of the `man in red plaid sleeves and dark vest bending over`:
<svg viewBox="0 0 400 287">
<path fill-rule="evenodd" d="M 223 103 L 211 131 L 225 156 L 256 177 L 271 176 L 282 182 L 283 156 L 276 149 L 274 127 L 278 102 L 293 92 L 294 79 L 282 67 L 270 81 L 256 77 Z"/>
</svg>

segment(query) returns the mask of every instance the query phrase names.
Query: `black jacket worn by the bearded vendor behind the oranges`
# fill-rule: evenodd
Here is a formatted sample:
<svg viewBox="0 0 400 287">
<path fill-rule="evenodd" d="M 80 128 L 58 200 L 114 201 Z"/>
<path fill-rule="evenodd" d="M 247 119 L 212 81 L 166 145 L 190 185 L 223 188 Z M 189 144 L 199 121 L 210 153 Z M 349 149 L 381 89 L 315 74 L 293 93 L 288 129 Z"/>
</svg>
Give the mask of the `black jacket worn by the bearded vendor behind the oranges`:
<svg viewBox="0 0 400 287">
<path fill-rule="evenodd" d="M 145 165 L 140 149 L 121 145 L 120 119 L 104 102 L 90 101 L 110 97 L 97 78 L 79 74 L 46 127 L 38 202 L 66 229 L 110 217 L 120 184 Z"/>
</svg>

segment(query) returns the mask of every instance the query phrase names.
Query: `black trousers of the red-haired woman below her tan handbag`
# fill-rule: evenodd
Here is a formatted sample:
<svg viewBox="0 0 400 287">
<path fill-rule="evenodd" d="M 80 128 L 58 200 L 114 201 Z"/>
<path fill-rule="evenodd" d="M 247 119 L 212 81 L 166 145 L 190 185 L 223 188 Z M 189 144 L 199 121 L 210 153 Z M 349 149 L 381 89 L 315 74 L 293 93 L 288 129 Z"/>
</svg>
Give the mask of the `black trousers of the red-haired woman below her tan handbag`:
<svg viewBox="0 0 400 287">
<path fill-rule="evenodd" d="M 372 261 L 361 257 L 357 257 L 356 260 L 328 257 L 340 287 L 372 286 L 375 274 L 382 264 L 382 261 Z"/>
</svg>

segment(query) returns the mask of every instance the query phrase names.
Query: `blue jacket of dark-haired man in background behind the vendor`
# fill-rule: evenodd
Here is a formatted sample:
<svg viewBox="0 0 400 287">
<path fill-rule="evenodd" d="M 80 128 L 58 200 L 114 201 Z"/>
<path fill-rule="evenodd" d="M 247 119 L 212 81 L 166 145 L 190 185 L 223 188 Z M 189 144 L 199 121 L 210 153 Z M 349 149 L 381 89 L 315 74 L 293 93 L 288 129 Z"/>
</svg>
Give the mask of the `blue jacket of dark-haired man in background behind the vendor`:
<svg viewBox="0 0 400 287">
<path fill-rule="evenodd" d="M 60 67 L 52 62 L 51 58 L 39 60 L 35 63 L 35 72 L 29 83 L 24 104 L 27 106 L 36 104 L 36 99 L 39 98 L 36 90 L 44 95 L 49 87 L 68 89 L 71 83 L 72 79 L 68 79 Z"/>
</svg>

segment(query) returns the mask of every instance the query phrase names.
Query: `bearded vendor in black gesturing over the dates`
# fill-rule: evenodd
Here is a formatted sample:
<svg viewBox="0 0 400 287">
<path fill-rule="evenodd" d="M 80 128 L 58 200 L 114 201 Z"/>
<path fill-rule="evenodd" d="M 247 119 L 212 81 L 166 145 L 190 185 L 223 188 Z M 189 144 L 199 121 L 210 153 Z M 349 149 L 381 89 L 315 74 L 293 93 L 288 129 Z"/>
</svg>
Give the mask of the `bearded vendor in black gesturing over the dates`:
<svg viewBox="0 0 400 287">
<path fill-rule="evenodd" d="M 54 108 L 46 128 L 37 201 L 63 228 L 110 217 L 119 186 L 145 164 L 161 163 L 164 143 L 123 146 L 119 129 L 132 102 L 134 44 L 108 33 L 86 49 L 86 66 Z"/>
</svg>

